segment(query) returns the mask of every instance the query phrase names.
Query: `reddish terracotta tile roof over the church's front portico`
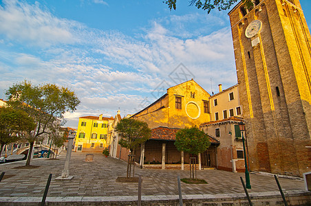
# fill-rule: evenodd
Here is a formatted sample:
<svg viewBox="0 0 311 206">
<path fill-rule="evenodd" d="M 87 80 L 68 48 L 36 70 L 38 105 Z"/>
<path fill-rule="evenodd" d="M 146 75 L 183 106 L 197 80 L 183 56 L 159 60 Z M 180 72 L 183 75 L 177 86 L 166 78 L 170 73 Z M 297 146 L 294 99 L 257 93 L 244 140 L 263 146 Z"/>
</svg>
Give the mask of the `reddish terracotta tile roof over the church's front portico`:
<svg viewBox="0 0 311 206">
<path fill-rule="evenodd" d="M 166 126 L 159 126 L 151 129 L 150 139 L 175 140 L 175 135 L 180 128 L 168 128 Z M 208 135 L 212 144 L 219 144 L 219 141 Z"/>
</svg>

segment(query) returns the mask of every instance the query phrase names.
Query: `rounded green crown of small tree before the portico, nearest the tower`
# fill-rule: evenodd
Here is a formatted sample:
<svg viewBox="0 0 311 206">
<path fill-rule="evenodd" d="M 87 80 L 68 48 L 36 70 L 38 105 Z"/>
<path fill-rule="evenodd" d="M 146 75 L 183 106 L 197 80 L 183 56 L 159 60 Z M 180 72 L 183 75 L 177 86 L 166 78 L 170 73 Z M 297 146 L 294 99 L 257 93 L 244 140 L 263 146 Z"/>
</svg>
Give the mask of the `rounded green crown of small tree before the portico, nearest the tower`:
<svg viewBox="0 0 311 206">
<path fill-rule="evenodd" d="M 208 135 L 197 127 L 184 128 L 176 133 L 175 146 L 178 151 L 197 155 L 207 150 L 210 145 Z"/>
</svg>

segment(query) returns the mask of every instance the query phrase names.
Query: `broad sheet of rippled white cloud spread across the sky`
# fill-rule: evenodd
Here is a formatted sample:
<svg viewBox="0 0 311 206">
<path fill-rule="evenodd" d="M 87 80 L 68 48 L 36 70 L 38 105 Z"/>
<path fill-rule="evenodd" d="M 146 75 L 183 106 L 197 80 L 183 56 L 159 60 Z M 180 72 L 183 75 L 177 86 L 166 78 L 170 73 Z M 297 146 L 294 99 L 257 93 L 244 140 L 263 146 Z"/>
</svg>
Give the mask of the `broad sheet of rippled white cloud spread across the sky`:
<svg viewBox="0 0 311 206">
<path fill-rule="evenodd" d="M 105 4 L 94 1 L 100 2 Z M 189 22 L 202 18 L 199 14 L 153 21 L 149 29 L 131 37 L 58 19 L 39 3 L 7 0 L 3 3 L 0 34 L 6 37 L 4 44 L 29 43 L 30 51 L 0 51 L 0 84 L 26 78 L 35 84 L 52 82 L 69 87 L 81 99 L 75 113 L 65 114 L 71 122 L 84 115 L 114 116 L 119 107 L 124 115 L 136 113 L 146 98 L 150 103 L 153 101 L 151 92 L 162 80 L 173 86 L 169 73 L 180 62 L 206 91 L 211 87 L 210 78 L 214 89 L 219 83 L 226 88 L 236 82 L 230 28 L 208 34 L 195 30 L 195 35 L 200 35 L 194 36 Z M 213 25 L 222 24 L 221 17 L 213 19 Z M 172 26 L 173 23 L 176 25 Z M 32 52 L 33 45 L 43 47 Z M 14 62 L 10 62 L 12 59 Z"/>
</svg>

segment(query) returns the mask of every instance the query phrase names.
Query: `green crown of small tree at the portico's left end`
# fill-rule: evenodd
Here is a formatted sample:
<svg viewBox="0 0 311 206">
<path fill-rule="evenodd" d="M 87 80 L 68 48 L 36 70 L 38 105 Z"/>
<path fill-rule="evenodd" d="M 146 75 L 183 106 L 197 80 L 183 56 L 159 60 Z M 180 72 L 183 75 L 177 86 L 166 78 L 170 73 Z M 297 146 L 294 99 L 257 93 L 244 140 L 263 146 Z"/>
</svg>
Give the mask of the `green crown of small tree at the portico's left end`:
<svg viewBox="0 0 311 206">
<path fill-rule="evenodd" d="M 135 148 L 151 137 L 151 129 L 146 122 L 136 119 L 124 118 L 116 126 L 116 132 L 120 133 L 120 146 L 133 152 Z"/>
</svg>

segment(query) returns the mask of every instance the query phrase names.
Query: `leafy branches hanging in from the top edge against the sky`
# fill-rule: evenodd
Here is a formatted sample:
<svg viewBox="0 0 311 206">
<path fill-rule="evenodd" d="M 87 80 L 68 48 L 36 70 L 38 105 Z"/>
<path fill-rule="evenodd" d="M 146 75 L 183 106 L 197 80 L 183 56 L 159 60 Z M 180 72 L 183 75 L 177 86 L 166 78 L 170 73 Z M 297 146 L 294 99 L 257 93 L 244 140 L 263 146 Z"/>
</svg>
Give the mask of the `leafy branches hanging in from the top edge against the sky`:
<svg viewBox="0 0 311 206">
<path fill-rule="evenodd" d="M 169 5 L 169 10 L 176 10 L 176 1 L 177 0 L 167 0 L 163 1 L 163 3 L 166 3 Z M 202 10 L 207 10 L 207 13 L 209 14 L 211 10 L 217 8 L 219 11 L 221 10 L 228 10 L 230 9 L 231 5 L 236 3 L 237 1 L 240 0 L 189 0 L 190 5 L 195 5 L 196 8 L 202 9 Z M 254 3 L 253 0 L 242 0 L 246 8 L 252 8 Z"/>
</svg>

